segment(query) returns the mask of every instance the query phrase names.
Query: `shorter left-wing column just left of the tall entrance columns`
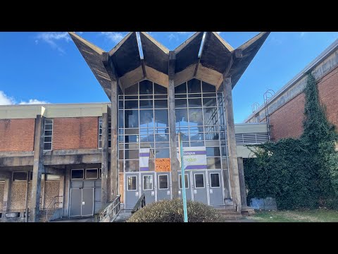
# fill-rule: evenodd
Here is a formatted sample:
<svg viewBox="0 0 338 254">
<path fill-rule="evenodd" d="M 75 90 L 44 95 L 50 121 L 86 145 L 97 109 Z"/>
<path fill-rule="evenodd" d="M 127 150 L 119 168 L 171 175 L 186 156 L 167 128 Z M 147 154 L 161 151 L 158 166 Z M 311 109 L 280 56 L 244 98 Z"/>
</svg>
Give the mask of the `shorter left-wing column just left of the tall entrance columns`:
<svg viewBox="0 0 338 254">
<path fill-rule="evenodd" d="M 108 202 L 108 113 L 102 114 L 101 207 Z"/>
</svg>

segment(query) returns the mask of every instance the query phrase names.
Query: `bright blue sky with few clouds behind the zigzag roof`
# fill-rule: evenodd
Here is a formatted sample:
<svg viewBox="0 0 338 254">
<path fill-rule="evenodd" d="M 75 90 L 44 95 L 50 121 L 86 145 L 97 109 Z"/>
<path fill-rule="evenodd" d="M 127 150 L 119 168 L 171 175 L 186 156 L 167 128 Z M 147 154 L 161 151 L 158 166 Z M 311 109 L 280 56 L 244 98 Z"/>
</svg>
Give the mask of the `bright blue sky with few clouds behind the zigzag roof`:
<svg viewBox="0 0 338 254">
<path fill-rule="evenodd" d="M 77 32 L 106 51 L 127 32 Z M 193 32 L 150 32 L 175 49 Z M 220 32 L 232 47 L 258 32 Z M 234 121 L 263 104 L 263 93 L 277 92 L 326 49 L 338 32 L 271 32 L 233 90 Z M 66 32 L 0 32 L 0 105 L 108 102 L 108 97 Z"/>
</svg>

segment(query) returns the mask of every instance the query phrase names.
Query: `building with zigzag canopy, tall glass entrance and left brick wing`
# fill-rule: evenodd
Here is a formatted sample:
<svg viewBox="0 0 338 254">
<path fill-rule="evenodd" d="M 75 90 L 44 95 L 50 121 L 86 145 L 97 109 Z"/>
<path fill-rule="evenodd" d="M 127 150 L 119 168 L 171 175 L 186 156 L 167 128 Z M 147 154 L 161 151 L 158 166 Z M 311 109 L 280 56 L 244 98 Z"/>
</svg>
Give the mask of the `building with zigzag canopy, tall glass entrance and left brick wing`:
<svg viewBox="0 0 338 254">
<path fill-rule="evenodd" d="M 126 209 L 142 194 L 180 197 L 177 133 L 187 198 L 241 212 L 244 145 L 267 141 L 268 130 L 234 125 L 232 88 L 269 32 L 237 49 L 196 32 L 173 51 L 130 32 L 110 52 L 69 34 L 111 102 L 0 107 L 1 219 L 90 216 L 117 195 Z"/>
</svg>

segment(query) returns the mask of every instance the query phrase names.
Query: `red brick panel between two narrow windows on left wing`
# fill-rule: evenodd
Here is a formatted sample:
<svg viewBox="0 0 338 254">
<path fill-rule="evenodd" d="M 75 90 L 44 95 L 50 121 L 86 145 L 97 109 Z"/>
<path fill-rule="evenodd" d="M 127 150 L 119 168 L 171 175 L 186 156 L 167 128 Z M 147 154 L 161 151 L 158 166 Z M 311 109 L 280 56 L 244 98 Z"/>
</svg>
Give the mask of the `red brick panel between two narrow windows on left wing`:
<svg viewBox="0 0 338 254">
<path fill-rule="evenodd" d="M 56 118 L 53 126 L 53 150 L 98 147 L 98 118 Z"/>
</svg>

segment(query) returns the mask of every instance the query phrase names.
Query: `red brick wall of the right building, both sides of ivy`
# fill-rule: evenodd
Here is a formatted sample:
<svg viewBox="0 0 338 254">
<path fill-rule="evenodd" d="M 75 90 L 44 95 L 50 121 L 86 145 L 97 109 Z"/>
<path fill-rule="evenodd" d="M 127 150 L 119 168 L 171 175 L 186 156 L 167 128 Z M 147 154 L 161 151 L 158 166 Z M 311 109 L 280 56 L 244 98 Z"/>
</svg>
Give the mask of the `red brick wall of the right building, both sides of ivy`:
<svg viewBox="0 0 338 254">
<path fill-rule="evenodd" d="M 327 119 L 338 128 L 338 68 L 320 80 L 318 92 L 320 102 L 326 107 Z M 305 95 L 301 93 L 270 114 L 273 140 L 299 138 L 303 133 L 304 103 Z"/>
</svg>

